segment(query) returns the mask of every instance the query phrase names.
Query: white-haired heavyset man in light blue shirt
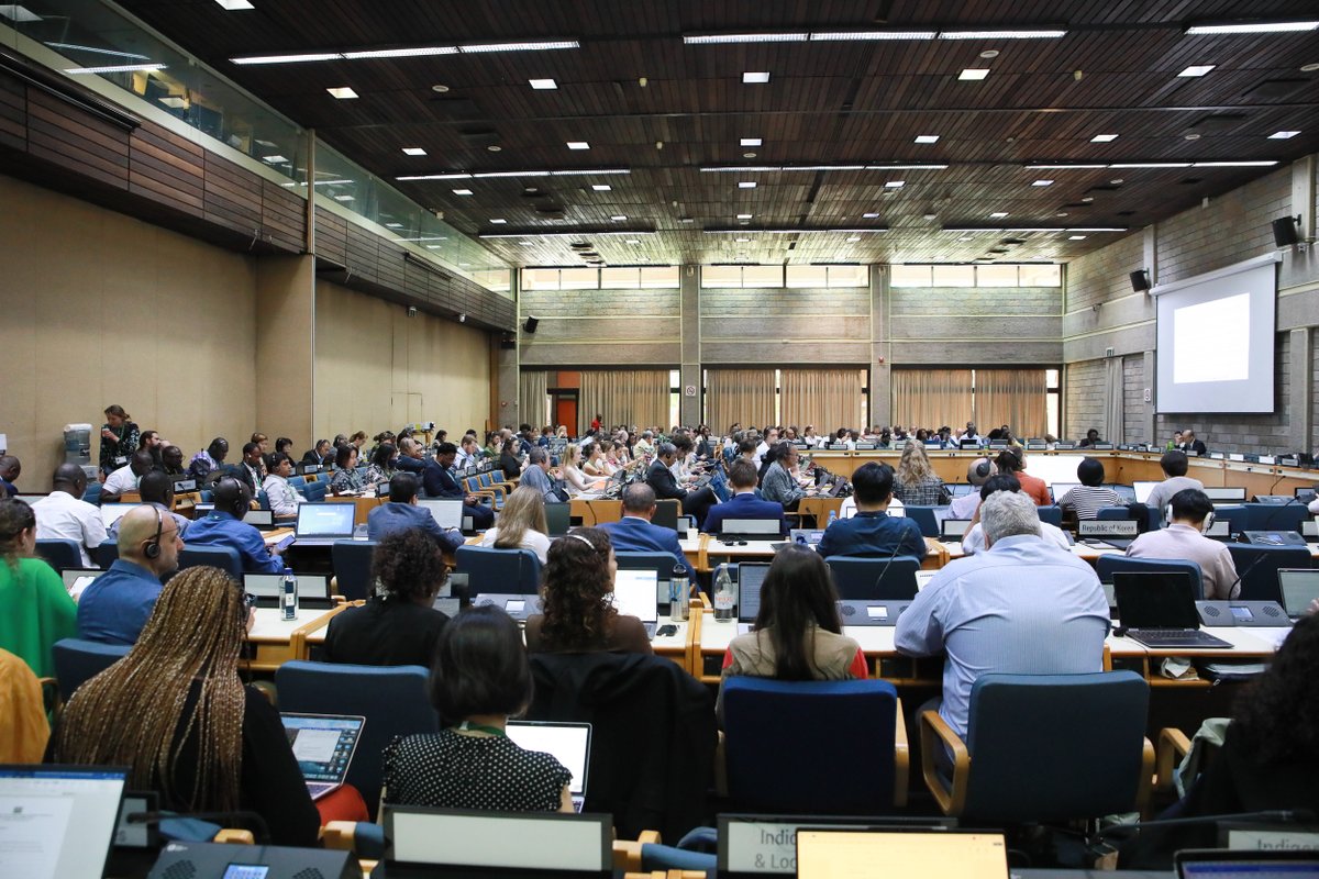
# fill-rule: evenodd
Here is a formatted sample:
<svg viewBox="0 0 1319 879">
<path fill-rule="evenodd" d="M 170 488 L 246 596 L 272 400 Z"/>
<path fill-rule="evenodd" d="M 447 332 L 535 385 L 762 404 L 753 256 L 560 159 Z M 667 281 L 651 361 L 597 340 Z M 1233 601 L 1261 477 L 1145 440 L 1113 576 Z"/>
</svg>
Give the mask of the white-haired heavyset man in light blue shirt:
<svg viewBox="0 0 1319 879">
<path fill-rule="evenodd" d="M 939 717 L 963 741 L 980 675 L 1103 671 L 1109 625 L 1095 569 L 1041 538 L 1030 497 L 996 492 L 980 522 L 987 551 L 939 571 L 894 633 L 900 652 L 947 654 Z"/>
</svg>

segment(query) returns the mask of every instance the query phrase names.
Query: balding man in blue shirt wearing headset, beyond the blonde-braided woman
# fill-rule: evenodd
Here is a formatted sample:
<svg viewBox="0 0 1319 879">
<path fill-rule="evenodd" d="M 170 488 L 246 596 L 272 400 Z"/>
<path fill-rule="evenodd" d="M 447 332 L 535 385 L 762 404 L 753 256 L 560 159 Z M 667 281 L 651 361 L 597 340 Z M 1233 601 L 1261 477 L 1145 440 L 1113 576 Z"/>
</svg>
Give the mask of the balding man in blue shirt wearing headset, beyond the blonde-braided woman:
<svg viewBox="0 0 1319 879">
<path fill-rule="evenodd" d="M 169 482 L 164 473 L 153 476 Z M 161 577 L 178 569 L 183 539 L 173 515 L 145 503 L 116 525 L 119 557 L 78 600 L 78 637 L 135 644 L 160 598 Z"/>
</svg>

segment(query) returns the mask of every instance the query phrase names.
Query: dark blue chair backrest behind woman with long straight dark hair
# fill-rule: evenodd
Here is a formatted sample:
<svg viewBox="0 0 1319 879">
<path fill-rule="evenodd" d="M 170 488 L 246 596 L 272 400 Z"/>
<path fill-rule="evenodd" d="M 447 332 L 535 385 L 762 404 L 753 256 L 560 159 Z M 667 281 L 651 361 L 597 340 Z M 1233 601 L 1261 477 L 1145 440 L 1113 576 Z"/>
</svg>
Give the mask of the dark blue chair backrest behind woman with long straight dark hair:
<svg viewBox="0 0 1319 879">
<path fill-rule="evenodd" d="M 881 680 L 724 681 L 724 752 L 733 808 L 885 814 L 894 805 L 897 691 Z M 805 745 L 820 741 L 827 747 Z M 795 755 L 795 758 L 787 758 Z"/>
</svg>

